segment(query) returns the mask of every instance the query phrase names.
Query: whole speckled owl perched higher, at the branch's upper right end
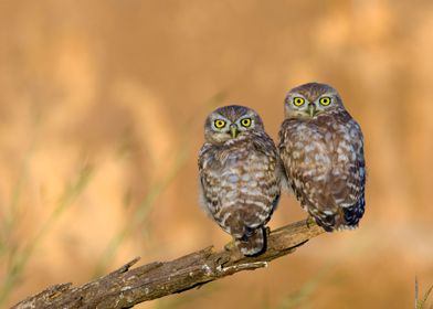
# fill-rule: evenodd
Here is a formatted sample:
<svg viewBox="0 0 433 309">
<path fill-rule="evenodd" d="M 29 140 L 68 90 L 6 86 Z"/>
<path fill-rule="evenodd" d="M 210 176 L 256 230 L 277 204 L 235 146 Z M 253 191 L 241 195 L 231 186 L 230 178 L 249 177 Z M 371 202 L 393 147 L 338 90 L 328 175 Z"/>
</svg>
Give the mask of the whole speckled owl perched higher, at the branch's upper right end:
<svg viewBox="0 0 433 309">
<path fill-rule="evenodd" d="M 356 228 L 366 204 L 360 126 L 325 84 L 289 90 L 284 109 L 278 151 L 296 199 L 325 231 Z"/>
</svg>

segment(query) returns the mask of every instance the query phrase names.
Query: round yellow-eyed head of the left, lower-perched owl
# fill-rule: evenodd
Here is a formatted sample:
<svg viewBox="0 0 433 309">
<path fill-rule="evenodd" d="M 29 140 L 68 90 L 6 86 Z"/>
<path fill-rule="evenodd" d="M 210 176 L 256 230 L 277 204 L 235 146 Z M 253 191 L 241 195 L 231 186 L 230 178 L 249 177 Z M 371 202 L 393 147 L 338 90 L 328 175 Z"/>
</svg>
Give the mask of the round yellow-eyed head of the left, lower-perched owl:
<svg viewBox="0 0 433 309">
<path fill-rule="evenodd" d="M 246 132 L 263 129 L 262 119 L 253 109 L 239 105 L 223 106 L 205 119 L 204 139 L 221 145 Z"/>
</svg>

